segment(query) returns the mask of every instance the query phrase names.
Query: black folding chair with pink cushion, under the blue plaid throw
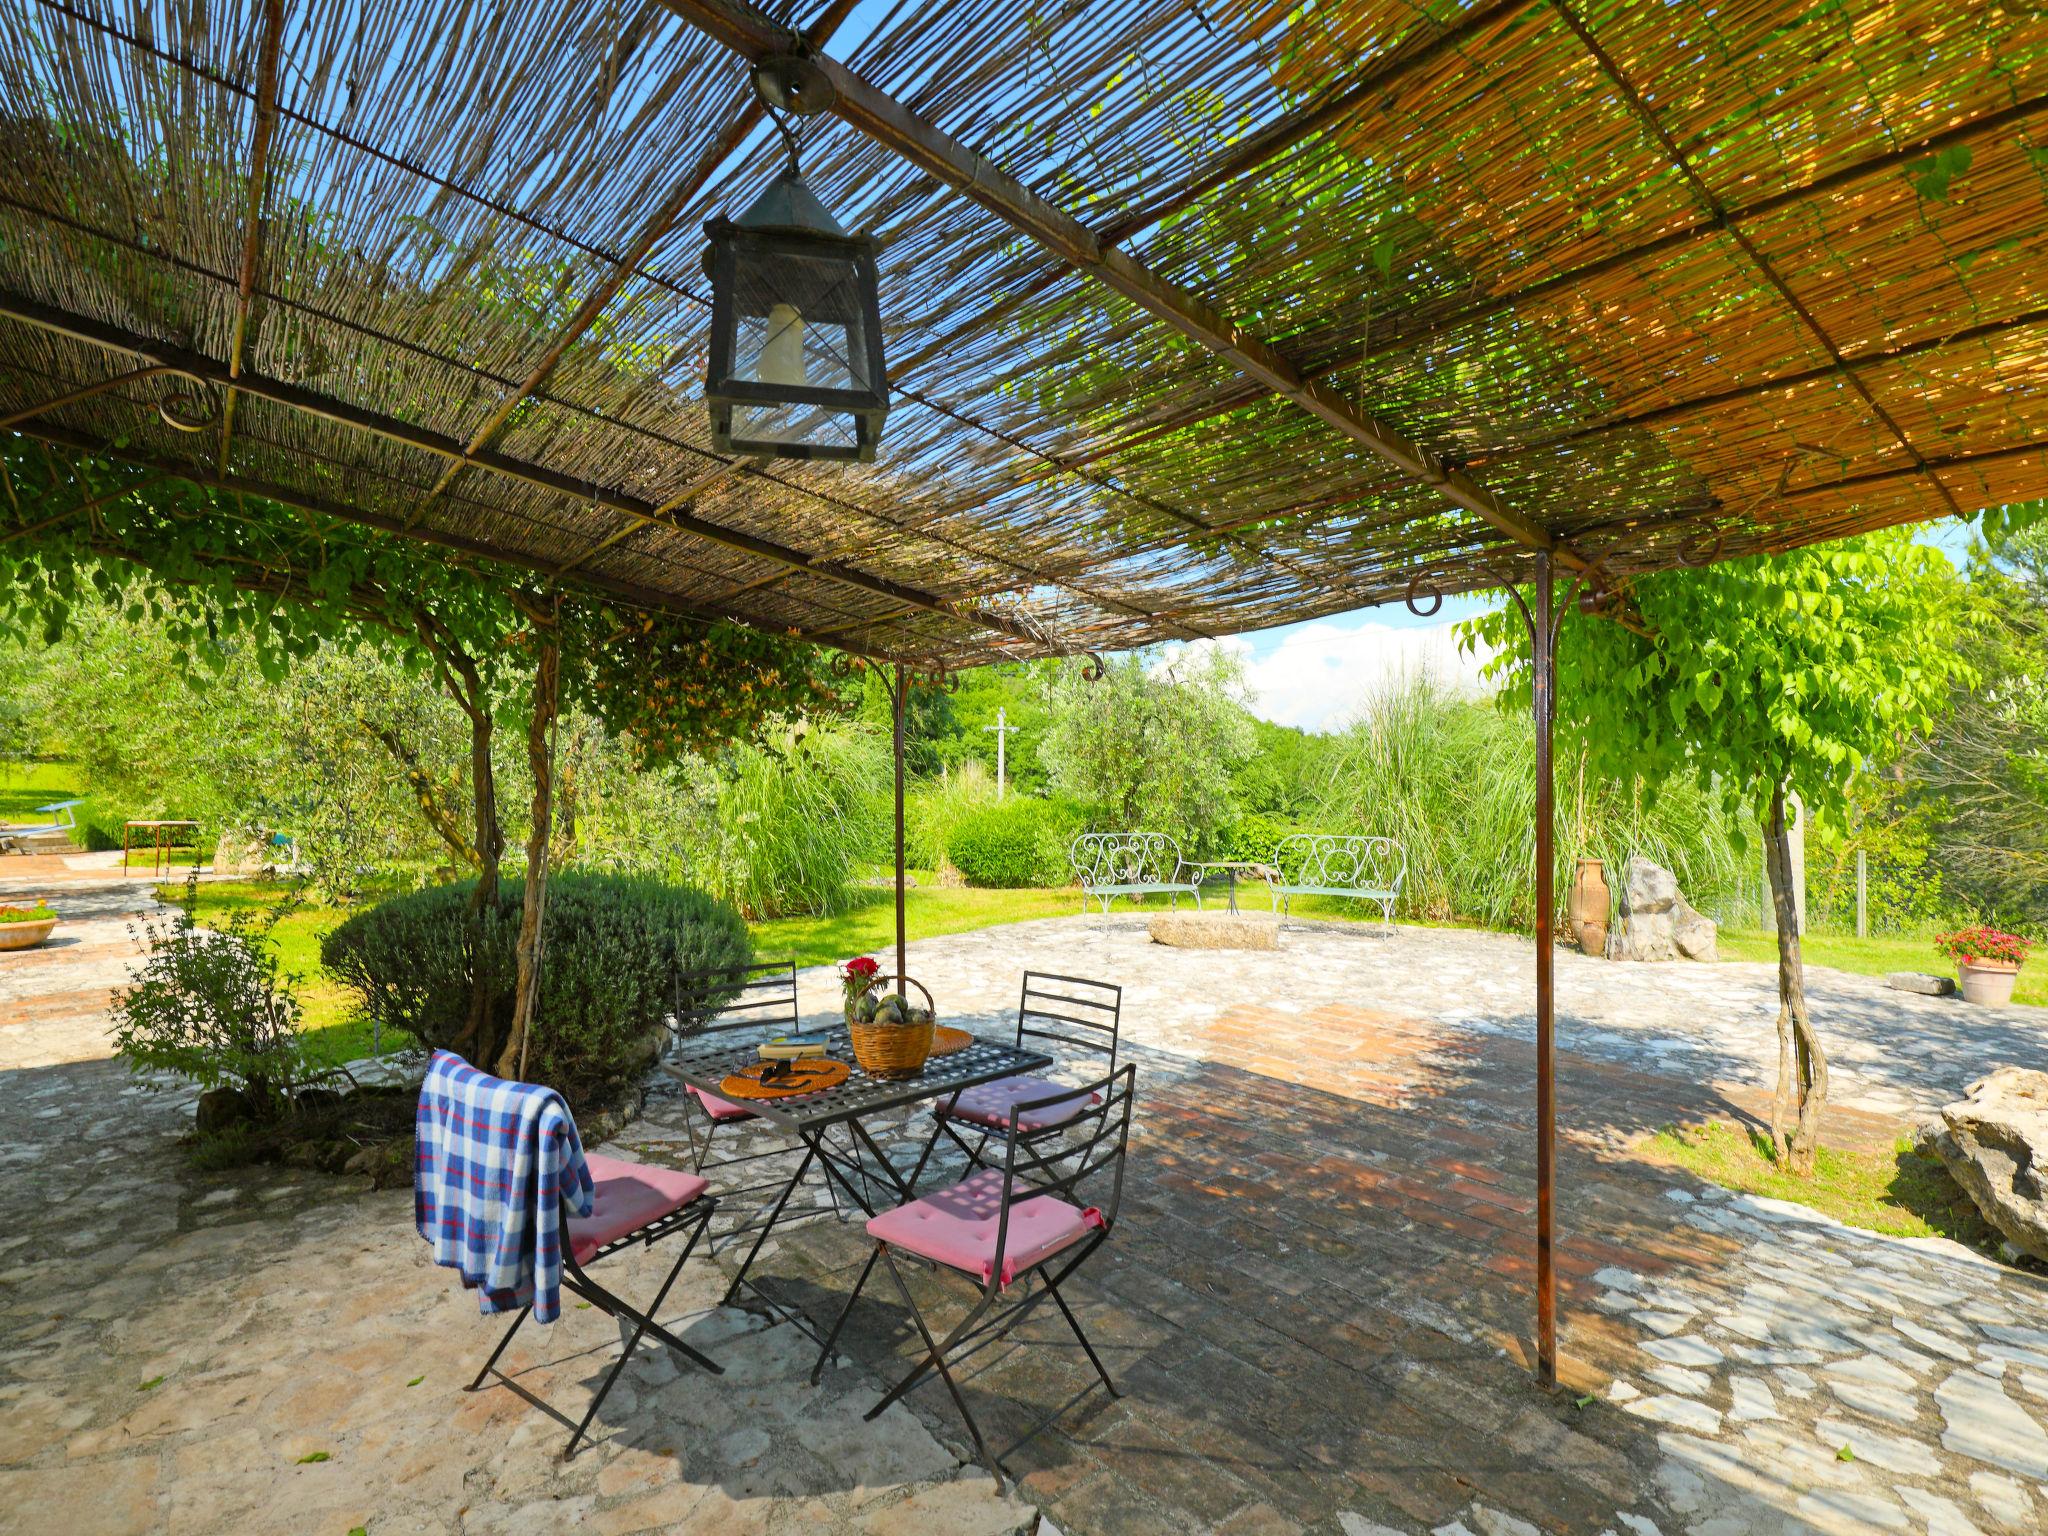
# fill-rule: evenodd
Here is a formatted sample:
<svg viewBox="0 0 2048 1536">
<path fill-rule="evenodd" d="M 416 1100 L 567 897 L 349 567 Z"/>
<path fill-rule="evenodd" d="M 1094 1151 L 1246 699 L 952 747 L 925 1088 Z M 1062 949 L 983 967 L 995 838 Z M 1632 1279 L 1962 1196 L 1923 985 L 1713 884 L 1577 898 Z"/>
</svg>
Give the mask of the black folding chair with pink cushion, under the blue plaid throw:
<svg viewBox="0 0 2048 1536">
<path fill-rule="evenodd" d="M 575 1448 L 590 1430 L 590 1421 L 598 1417 L 598 1409 L 612 1391 L 612 1382 L 618 1380 L 618 1372 L 625 1370 L 627 1360 L 633 1358 L 633 1352 L 645 1335 L 651 1333 L 662 1339 L 662 1343 L 674 1350 L 682 1360 L 702 1366 L 713 1376 L 725 1374 L 725 1368 L 717 1360 L 692 1350 L 688 1343 L 653 1321 L 655 1313 L 662 1311 L 662 1303 L 668 1300 L 668 1292 L 676 1284 L 676 1276 L 682 1274 L 682 1266 L 690 1262 L 690 1251 L 696 1247 L 696 1239 L 702 1237 L 705 1227 L 711 1225 L 711 1217 L 719 1208 L 717 1198 L 705 1192 L 707 1184 L 696 1174 L 682 1174 L 655 1163 L 629 1163 L 600 1153 L 588 1153 L 584 1161 L 590 1165 L 590 1178 L 596 1184 L 596 1204 L 588 1217 L 578 1217 L 571 1214 L 567 1202 L 563 1202 L 561 1288 L 582 1296 L 600 1313 L 618 1321 L 621 1333 L 627 1333 L 627 1323 L 631 1323 L 633 1329 L 627 1333 L 625 1350 L 618 1352 L 618 1360 L 612 1362 L 610 1372 L 606 1372 L 604 1382 L 598 1386 L 598 1395 L 590 1399 L 590 1407 L 584 1411 L 584 1421 L 578 1423 L 575 1432 L 569 1436 L 569 1448 L 563 1452 L 563 1460 L 575 1456 Z M 682 1245 L 682 1253 L 676 1257 L 676 1264 L 668 1272 L 668 1280 L 662 1282 L 662 1288 L 655 1292 L 653 1305 L 647 1307 L 647 1311 L 639 1311 L 616 1292 L 606 1290 L 602 1284 L 592 1280 L 584 1268 L 610 1257 L 621 1249 L 633 1247 L 635 1243 L 653 1247 L 664 1237 L 674 1237 L 676 1233 L 688 1233 L 690 1241 Z M 530 1305 L 520 1307 L 518 1317 L 512 1319 L 512 1327 L 508 1327 L 506 1335 L 498 1339 L 498 1348 L 492 1350 L 492 1358 L 483 1362 L 483 1370 L 479 1370 L 477 1378 L 463 1391 L 473 1393 L 483 1386 L 483 1378 L 496 1370 L 498 1358 L 506 1352 L 506 1346 L 512 1343 L 512 1335 L 518 1333 L 520 1323 L 524 1323 L 530 1313 Z M 567 1423 L 561 1413 L 555 1413 L 555 1409 L 547 1407 L 547 1403 L 526 1391 L 512 1376 L 498 1372 L 498 1378 L 535 1407 L 541 1407 L 555 1419 Z"/>
</svg>

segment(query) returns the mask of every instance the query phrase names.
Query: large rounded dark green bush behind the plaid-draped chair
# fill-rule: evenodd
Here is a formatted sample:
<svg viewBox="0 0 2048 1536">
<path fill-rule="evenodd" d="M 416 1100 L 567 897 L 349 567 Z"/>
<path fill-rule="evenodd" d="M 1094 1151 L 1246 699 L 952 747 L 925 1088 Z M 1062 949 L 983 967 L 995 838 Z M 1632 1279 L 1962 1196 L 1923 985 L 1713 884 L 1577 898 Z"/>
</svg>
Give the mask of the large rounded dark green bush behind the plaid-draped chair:
<svg viewBox="0 0 2048 1536">
<path fill-rule="evenodd" d="M 473 889 L 475 881 L 459 881 L 381 901 L 330 932 L 319 958 L 385 1030 L 469 1055 Z M 524 899 L 524 881 L 504 881 L 498 905 L 481 913 L 492 1040 L 510 1032 Z M 750 958 L 739 913 L 702 891 L 637 874 L 553 877 L 526 1077 L 559 1090 L 571 1106 L 600 1100 L 647 1065 L 680 973 Z M 477 1065 L 496 1067 L 487 1059 Z"/>
</svg>

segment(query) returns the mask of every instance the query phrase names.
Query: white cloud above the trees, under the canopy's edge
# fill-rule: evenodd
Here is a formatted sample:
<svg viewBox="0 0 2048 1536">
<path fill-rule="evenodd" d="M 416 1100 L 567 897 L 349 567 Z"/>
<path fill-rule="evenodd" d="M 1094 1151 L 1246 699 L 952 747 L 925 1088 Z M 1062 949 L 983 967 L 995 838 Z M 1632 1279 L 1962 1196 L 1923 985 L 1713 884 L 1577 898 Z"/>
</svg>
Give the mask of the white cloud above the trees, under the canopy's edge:
<svg viewBox="0 0 2048 1536">
<path fill-rule="evenodd" d="M 1450 621 L 1380 625 L 1319 621 L 1288 629 L 1276 645 L 1223 641 L 1245 662 L 1251 713 L 1305 731 L 1346 725 L 1374 692 L 1401 678 L 1430 674 L 1473 694 L 1489 692 L 1479 670 L 1491 657 L 1464 653 Z"/>
</svg>

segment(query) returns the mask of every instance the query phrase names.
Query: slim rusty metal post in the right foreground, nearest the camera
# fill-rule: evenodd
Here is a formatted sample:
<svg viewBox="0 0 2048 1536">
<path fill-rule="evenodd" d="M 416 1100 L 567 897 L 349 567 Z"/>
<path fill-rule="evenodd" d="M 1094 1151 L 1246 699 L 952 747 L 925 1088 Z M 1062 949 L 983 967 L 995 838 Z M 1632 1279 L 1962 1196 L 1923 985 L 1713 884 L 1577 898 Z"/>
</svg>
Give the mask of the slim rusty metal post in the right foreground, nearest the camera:
<svg viewBox="0 0 2048 1536">
<path fill-rule="evenodd" d="M 1530 604 L 1532 698 L 1536 707 L 1536 1378 L 1556 1382 L 1556 997 L 1550 913 L 1556 901 L 1556 850 L 1552 846 L 1554 797 L 1550 782 L 1550 727 L 1556 717 L 1556 627 L 1552 618 L 1548 551 L 1536 555 L 1536 600 Z"/>
</svg>

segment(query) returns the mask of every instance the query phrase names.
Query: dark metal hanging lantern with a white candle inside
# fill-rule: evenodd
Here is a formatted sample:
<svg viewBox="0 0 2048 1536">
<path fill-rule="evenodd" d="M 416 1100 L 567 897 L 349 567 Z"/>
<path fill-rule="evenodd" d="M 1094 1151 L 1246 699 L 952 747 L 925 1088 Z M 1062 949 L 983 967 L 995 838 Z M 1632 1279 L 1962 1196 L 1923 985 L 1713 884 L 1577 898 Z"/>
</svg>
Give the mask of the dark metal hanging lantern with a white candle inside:
<svg viewBox="0 0 2048 1536">
<path fill-rule="evenodd" d="M 889 414 L 874 242 L 791 166 L 711 246 L 711 442 L 780 459 L 874 459 Z"/>
</svg>

